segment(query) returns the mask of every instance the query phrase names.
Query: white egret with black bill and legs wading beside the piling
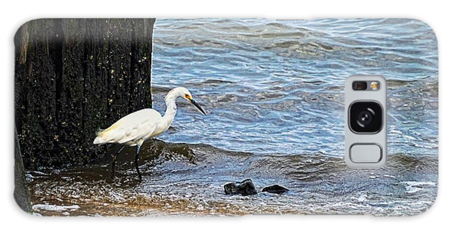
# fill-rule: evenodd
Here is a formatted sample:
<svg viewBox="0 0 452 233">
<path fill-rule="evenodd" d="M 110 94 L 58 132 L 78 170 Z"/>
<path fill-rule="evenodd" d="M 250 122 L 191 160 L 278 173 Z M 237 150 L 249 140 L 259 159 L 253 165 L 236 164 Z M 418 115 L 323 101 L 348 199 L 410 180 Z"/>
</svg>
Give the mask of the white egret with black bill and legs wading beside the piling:
<svg viewBox="0 0 452 233">
<path fill-rule="evenodd" d="M 94 144 L 102 145 L 116 143 L 123 145 L 119 151 L 111 157 L 111 178 L 115 175 L 116 158 L 127 145 L 137 146 L 135 168 L 137 169 L 138 177 L 141 180 L 141 173 L 138 169 L 138 155 L 140 154 L 141 145 L 143 145 L 145 140 L 156 137 L 168 130 L 176 116 L 177 97 L 188 100 L 188 102 L 195 105 L 202 114 L 206 115 L 201 106 L 193 100 L 191 93 L 187 88 L 176 87 L 170 90 L 165 97 L 166 111 L 163 116 L 152 108 L 141 109 L 126 115 L 107 129 L 97 133 Z"/>
</svg>

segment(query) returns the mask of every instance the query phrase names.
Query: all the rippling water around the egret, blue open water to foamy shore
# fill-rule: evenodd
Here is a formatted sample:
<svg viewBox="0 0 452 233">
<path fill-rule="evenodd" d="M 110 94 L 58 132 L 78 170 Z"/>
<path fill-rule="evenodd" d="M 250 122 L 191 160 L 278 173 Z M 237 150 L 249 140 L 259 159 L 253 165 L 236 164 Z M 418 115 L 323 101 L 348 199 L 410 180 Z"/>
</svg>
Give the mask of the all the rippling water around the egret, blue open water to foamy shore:
<svg viewBox="0 0 452 233">
<path fill-rule="evenodd" d="M 142 151 L 144 181 L 120 157 L 110 181 L 98 165 L 30 172 L 35 211 L 45 215 L 411 215 L 436 197 L 437 44 L 431 29 L 403 19 L 157 20 L 154 108 L 187 87 L 207 111 L 178 102 L 172 127 Z M 344 162 L 345 78 L 388 79 L 387 166 Z M 162 142 L 162 141 L 164 142 Z M 110 152 L 117 150 L 111 148 Z M 285 195 L 226 196 L 252 178 Z M 75 205 L 75 206 L 74 206 Z"/>
</svg>

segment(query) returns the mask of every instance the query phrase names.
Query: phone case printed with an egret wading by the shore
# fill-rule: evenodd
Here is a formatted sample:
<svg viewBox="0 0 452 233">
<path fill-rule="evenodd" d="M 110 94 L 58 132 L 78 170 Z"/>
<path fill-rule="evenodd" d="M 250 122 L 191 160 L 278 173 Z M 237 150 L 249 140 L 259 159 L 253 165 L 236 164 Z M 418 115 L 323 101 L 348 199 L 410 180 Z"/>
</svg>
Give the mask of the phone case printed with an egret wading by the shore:
<svg viewBox="0 0 452 233">
<path fill-rule="evenodd" d="M 435 200 L 438 50 L 421 21 L 39 19 L 14 41 L 27 212 L 399 216 Z M 387 80 L 380 169 L 344 162 L 355 74 Z"/>
</svg>

